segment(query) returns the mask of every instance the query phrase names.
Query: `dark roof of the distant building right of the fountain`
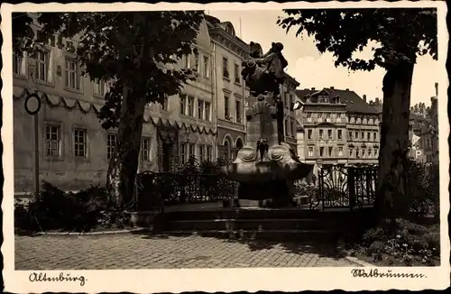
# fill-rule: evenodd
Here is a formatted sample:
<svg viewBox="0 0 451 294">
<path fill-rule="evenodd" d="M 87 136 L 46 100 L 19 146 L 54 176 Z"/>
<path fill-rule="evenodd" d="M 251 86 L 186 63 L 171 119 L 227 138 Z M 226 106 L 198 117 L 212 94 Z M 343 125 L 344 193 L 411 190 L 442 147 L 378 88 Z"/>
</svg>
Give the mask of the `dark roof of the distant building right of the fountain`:
<svg viewBox="0 0 451 294">
<path fill-rule="evenodd" d="M 330 98 L 339 96 L 344 102 L 346 103 L 346 112 L 349 113 L 359 113 L 359 114 L 380 114 L 380 110 L 378 107 L 370 106 L 368 103 L 364 101 L 360 96 L 358 96 L 353 90 L 345 89 L 332 89 L 325 87 L 321 90 L 315 90 L 315 88 L 312 89 L 299 89 L 296 90 L 296 94 L 298 94 L 299 98 L 302 100 L 302 102 L 306 102 L 306 96 L 307 95 L 316 95 L 319 94 L 321 91 L 326 90 L 327 96 Z"/>
</svg>

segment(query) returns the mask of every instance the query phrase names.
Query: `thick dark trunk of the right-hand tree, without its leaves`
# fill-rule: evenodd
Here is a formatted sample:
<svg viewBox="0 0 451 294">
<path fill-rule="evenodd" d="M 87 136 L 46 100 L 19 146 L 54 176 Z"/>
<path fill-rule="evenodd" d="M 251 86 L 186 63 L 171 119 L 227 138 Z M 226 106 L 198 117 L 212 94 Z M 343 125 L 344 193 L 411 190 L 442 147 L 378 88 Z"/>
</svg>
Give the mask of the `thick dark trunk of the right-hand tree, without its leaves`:
<svg viewBox="0 0 451 294">
<path fill-rule="evenodd" d="M 406 195 L 410 87 L 413 64 L 401 63 L 387 68 L 383 78 L 381 152 L 375 207 L 379 220 L 391 221 L 409 212 Z"/>
</svg>

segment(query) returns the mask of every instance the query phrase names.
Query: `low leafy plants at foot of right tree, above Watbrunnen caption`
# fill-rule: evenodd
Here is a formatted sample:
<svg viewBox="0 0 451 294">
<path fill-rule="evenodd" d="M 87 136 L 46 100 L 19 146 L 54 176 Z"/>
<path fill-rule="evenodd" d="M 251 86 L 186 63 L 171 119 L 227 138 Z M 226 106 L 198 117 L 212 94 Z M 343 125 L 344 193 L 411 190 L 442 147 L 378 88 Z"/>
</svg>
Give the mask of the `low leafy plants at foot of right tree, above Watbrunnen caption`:
<svg viewBox="0 0 451 294">
<path fill-rule="evenodd" d="M 434 265 L 440 252 L 439 225 L 424 226 L 397 219 L 396 230 L 389 231 L 382 226 L 365 232 L 359 251 L 373 257 L 398 260 L 406 266 L 413 262 Z"/>
</svg>

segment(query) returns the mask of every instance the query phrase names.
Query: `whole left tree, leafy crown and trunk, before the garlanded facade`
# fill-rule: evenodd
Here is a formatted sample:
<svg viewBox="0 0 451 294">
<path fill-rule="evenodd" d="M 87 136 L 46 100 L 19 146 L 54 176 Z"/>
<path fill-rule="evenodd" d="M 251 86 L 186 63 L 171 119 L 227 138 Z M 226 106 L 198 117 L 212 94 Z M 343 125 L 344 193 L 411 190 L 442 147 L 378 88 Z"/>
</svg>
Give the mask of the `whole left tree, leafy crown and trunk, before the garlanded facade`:
<svg viewBox="0 0 451 294">
<path fill-rule="evenodd" d="M 106 188 L 118 207 L 133 196 L 144 107 L 179 94 L 195 76 L 171 69 L 191 54 L 203 12 L 43 13 L 13 15 L 14 51 L 39 51 L 49 38 L 74 40 L 83 74 L 110 81 L 99 117 L 118 128 Z M 32 22 L 41 26 L 31 30 Z M 59 44 L 60 45 L 60 44 Z"/>
</svg>

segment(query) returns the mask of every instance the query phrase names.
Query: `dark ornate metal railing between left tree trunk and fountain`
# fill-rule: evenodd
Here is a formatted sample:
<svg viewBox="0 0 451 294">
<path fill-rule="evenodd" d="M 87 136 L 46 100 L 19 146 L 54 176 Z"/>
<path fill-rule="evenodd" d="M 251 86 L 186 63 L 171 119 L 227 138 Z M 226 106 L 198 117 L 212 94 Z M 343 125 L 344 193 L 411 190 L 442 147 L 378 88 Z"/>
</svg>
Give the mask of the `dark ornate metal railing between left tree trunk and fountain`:
<svg viewBox="0 0 451 294">
<path fill-rule="evenodd" d="M 140 210 L 238 197 L 238 183 L 217 174 L 146 171 L 137 175 L 136 183 L 137 207 Z"/>
</svg>

